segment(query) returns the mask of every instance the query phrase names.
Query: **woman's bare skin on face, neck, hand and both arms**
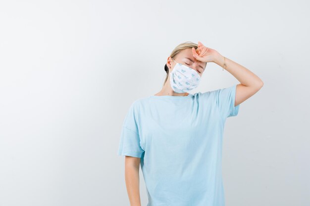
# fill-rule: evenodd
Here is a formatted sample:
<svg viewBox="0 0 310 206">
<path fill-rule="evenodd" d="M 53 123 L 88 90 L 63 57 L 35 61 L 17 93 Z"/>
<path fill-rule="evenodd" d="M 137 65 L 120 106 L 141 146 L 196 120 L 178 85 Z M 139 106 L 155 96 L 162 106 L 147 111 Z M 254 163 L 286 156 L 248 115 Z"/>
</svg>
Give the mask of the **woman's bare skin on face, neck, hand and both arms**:
<svg viewBox="0 0 310 206">
<path fill-rule="evenodd" d="M 184 64 L 198 72 L 202 77 L 206 70 L 207 62 L 213 62 L 220 66 L 220 69 L 224 68 L 224 56 L 218 51 L 206 47 L 202 42 L 198 41 L 198 48 L 186 48 L 178 53 L 174 58 L 177 63 Z M 191 60 L 189 60 L 191 59 Z M 167 67 L 169 68 L 169 75 L 174 65 L 176 64 L 171 57 L 167 59 Z M 244 66 L 225 57 L 226 69 L 232 74 L 240 83 L 236 87 L 235 106 L 241 104 L 245 100 L 249 99 L 263 86 L 263 82 Z M 186 96 L 188 93 L 176 93 L 170 86 L 169 77 L 165 82 L 162 89 L 155 95 L 170 95 L 170 96 Z M 141 206 L 140 202 L 140 190 L 139 190 L 139 167 L 140 158 L 125 157 L 125 179 L 127 193 L 130 200 L 130 206 Z"/>
</svg>

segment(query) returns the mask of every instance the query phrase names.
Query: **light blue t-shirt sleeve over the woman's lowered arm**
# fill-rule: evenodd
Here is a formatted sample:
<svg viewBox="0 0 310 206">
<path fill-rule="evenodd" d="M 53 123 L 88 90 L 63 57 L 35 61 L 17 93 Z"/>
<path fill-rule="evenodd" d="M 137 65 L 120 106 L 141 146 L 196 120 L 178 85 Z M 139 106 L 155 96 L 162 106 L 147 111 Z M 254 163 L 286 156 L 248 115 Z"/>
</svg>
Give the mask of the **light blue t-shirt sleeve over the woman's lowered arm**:
<svg viewBox="0 0 310 206">
<path fill-rule="evenodd" d="M 130 106 L 121 128 L 118 155 L 141 158 L 144 150 L 140 146 L 134 103 Z"/>
</svg>

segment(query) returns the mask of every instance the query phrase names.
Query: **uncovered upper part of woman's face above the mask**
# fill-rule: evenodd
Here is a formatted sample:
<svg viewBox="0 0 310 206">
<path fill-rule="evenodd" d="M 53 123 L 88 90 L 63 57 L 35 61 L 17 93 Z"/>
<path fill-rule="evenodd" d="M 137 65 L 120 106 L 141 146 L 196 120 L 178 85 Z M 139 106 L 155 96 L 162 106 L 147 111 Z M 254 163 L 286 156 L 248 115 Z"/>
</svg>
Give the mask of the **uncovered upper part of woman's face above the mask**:
<svg viewBox="0 0 310 206">
<path fill-rule="evenodd" d="M 183 49 L 180 53 L 178 53 L 174 58 L 174 61 L 177 63 L 181 63 L 187 67 L 190 67 L 198 72 L 200 77 L 203 75 L 205 68 L 207 66 L 206 62 L 198 61 L 193 57 L 192 48 Z M 169 71 L 171 72 L 175 66 L 171 57 L 168 57 L 167 65 L 170 65 Z"/>
</svg>

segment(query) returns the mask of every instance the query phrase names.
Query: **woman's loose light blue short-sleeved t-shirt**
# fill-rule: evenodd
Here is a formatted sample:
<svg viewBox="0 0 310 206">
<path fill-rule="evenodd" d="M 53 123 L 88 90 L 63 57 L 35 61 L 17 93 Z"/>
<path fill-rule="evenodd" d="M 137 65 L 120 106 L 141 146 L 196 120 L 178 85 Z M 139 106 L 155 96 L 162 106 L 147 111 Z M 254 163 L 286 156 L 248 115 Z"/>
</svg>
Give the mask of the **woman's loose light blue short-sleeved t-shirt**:
<svg viewBox="0 0 310 206">
<path fill-rule="evenodd" d="M 239 111 L 236 86 L 132 103 L 118 155 L 141 158 L 147 206 L 225 205 L 222 136 L 226 118 Z"/>
</svg>

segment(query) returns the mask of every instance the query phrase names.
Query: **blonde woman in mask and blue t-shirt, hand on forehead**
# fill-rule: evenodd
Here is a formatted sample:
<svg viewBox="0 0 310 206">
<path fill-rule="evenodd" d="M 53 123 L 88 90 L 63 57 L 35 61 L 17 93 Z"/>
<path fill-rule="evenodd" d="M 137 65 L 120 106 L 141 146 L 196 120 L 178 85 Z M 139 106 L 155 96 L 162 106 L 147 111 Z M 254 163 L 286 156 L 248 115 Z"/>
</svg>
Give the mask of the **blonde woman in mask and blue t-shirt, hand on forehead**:
<svg viewBox="0 0 310 206">
<path fill-rule="evenodd" d="M 214 91 L 188 93 L 199 85 L 207 62 L 239 82 Z M 131 206 L 141 206 L 139 166 L 148 206 L 224 206 L 221 173 L 225 120 L 263 82 L 247 68 L 214 49 L 187 41 L 165 64 L 162 89 L 132 103 L 123 122 L 118 155 L 125 156 L 125 181 Z"/>
</svg>

